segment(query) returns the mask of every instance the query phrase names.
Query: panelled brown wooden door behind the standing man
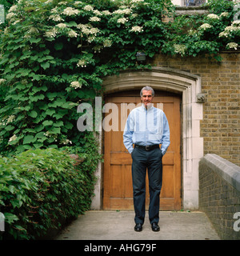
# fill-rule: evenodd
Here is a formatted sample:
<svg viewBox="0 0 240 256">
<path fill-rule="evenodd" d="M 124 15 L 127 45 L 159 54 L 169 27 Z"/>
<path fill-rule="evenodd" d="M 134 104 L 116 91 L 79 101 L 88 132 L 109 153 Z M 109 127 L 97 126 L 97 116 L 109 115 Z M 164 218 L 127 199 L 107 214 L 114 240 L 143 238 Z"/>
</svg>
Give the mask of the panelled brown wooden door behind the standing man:
<svg viewBox="0 0 240 256">
<path fill-rule="evenodd" d="M 135 93 L 134 93 L 135 94 Z M 141 104 L 139 96 L 133 93 L 111 96 L 106 103 L 113 103 L 116 111 L 105 114 L 109 126 L 114 118 L 114 131 L 104 132 L 104 210 L 134 210 L 131 176 L 132 159 L 123 144 L 123 129 L 130 110 Z M 139 95 L 139 93 L 138 93 Z M 110 106 L 111 109 L 111 105 Z M 118 108 L 116 108 L 118 106 Z M 139 106 L 139 105 L 138 105 Z M 162 158 L 162 190 L 160 210 L 181 209 L 181 156 L 180 156 L 180 98 L 163 92 L 155 92 L 154 106 L 161 108 L 170 126 L 170 146 Z M 109 115 L 109 116 L 108 116 Z M 118 122 L 117 122 L 118 120 Z M 117 123 L 117 126 L 116 126 Z M 118 128 L 118 129 L 117 129 Z M 146 210 L 149 206 L 149 188 L 146 175 Z"/>
</svg>

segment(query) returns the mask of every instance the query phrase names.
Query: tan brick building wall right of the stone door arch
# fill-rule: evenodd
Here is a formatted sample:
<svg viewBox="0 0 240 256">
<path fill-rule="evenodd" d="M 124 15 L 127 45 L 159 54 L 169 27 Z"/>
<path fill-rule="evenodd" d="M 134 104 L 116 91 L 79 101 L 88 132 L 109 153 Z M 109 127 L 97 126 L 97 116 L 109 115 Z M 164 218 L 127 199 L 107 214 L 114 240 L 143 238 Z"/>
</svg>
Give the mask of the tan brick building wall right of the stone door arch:
<svg viewBox="0 0 240 256">
<path fill-rule="evenodd" d="M 155 66 L 171 67 L 202 78 L 206 94 L 201 122 L 204 154 L 218 154 L 240 166 L 240 54 L 221 54 L 214 58 L 182 58 L 158 54 Z"/>
</svg>

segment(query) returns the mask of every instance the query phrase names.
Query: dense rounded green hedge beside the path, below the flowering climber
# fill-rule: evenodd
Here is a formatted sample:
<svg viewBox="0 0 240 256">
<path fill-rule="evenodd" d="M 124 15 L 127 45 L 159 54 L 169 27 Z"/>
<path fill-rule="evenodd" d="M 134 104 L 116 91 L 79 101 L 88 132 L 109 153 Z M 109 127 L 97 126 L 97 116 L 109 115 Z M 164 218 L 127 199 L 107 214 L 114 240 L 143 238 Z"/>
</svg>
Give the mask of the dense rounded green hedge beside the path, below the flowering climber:
<svg viewBox="0 0 240 256">
<path fill-rule="evenodd" d="M 0 240 L 41 238 L 88 210 L 95 170 L 89 161 L 76 164 L 66 151 L 55 149 L 1 157 L 0 212 L 6 220 Z"/>
</svg>

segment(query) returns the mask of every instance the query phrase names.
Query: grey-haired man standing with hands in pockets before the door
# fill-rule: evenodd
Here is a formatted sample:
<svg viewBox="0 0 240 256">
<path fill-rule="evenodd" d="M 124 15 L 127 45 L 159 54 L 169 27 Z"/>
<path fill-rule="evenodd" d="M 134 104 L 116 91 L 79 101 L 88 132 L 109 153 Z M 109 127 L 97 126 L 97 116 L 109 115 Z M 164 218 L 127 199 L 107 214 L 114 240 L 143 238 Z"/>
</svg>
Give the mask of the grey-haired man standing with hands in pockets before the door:
<svg viewBox="0 0 240 256">
<path fill-rule="evenodd" d="M 132 156 L 135 231 L 142 231 L 145 218 L 146 168 L 150 187 L 149 219 L 153 231 L 159 231 L 159 196 L 162 188 L 162 156 L 170 145 L 170 129 L 166 115 L 152 104 L 154 90 L 141 90 L 142 106 L 127 118 L 123 143 Z M 133 147 L 134 144 L 134 147 Z M 162 144 L 161 149 L 159 145 Z"/>
</svg>

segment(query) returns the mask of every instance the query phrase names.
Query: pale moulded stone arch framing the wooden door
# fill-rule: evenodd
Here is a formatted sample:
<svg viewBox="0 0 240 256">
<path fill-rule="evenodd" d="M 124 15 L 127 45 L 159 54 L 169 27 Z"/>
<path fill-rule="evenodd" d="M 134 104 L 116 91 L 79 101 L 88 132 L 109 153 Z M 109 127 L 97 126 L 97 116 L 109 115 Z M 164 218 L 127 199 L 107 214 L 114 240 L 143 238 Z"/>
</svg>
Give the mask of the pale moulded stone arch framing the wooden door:
<svg viewBox="0 0 240 256">
<path fill-rule="evenodd" d="M 198 209 L 198 162 L 203 157 L 201 78 L 182 70 L 152 67 L 151 70 L 126 70 L 103 80 L 105 94 L 140 90 L 143 86 L 182 94 L 182 204 L 185 210 Z"/>
</svg>

